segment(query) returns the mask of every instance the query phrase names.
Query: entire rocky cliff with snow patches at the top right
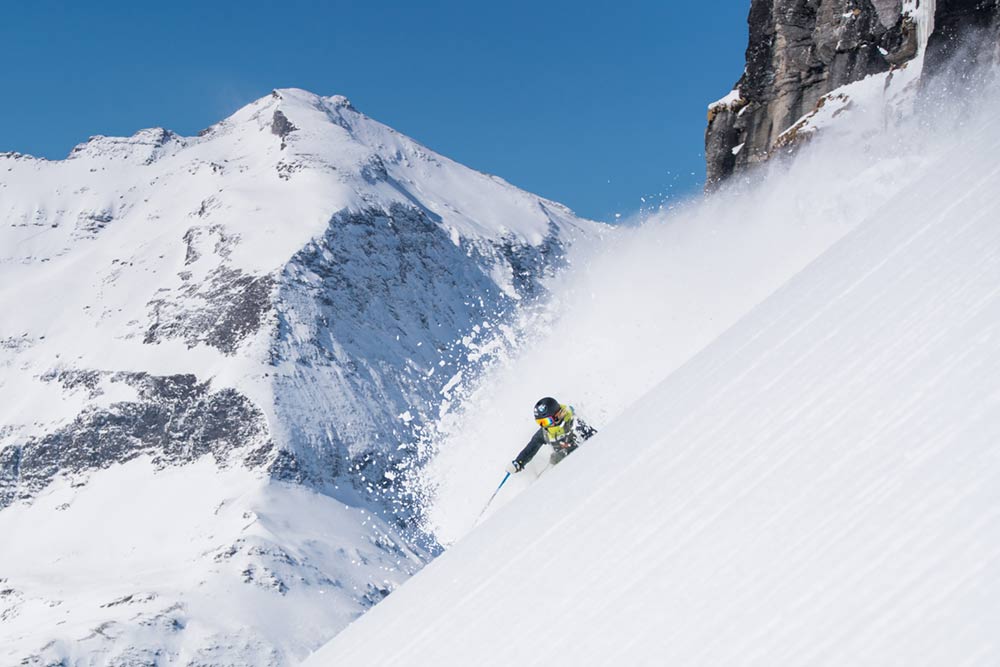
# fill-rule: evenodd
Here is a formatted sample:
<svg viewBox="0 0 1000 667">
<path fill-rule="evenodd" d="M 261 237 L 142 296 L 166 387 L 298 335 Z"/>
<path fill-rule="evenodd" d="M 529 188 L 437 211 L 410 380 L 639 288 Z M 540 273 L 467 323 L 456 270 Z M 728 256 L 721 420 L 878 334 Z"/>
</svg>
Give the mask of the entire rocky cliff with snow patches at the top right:
<svg viewBox="0 0 1000 667">
<path fill-rule="evenodd" d="M 827 116 L 848 111 L 844 86 L 881 75 L 895 112 L 916 89 L 925 52 L 930 70 L 941 69 L 976 33 L 986 41 L 972 53 L 995 58 L 997 16 L 996 0 L 753 0 L 746 69 L 709 107 L 706 188 L 794 148 L 824 107 Z"/>
</svg>

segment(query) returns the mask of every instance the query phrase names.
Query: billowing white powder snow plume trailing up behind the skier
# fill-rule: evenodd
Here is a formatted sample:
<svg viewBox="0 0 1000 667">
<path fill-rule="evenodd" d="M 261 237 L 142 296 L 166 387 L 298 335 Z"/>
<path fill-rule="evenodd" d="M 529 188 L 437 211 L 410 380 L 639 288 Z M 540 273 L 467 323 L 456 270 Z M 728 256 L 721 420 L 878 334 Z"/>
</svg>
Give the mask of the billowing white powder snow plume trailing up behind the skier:
<svg viewBox="0 0 1000 667">
<path fill-rule="evenodd" d="M 600 429 L 845 234 L 891 216 L 881 210 L 887 202 L 962 132 L 988 122 L 972 114 L 995 108 L 985 99 L 995 88 L 979 89 L 987 80 L 925 82 L 916 105 L 921 83 L 912 75 L 847 86 L 848 122 L 824 126 L 794 159 L 578 254 L 544 307 L 507 332 L 500 359 L 456 391 L 462 398 L 439 423 L 421 480 L 428 527 L 445 544 L 473 527 L 531 437 L 538 398 L 570 403 Z M 627 458 L 634 444 L 615 446 Z M 490 512 L 531 486 L 547 460 L 543 452 L 508 481 Z"/>
</svg>

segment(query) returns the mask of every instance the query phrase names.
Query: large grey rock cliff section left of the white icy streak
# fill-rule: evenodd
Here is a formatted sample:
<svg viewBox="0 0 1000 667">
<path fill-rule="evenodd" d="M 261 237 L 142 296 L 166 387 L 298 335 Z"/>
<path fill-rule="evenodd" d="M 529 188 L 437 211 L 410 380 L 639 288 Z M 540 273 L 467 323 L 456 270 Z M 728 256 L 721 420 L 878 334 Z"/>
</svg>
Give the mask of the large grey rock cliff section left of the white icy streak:
<svg viewBox="0 0 1000 667">
<path fill-rule="evenodd" d="M 840 86 L 917 52 L 900 0 L 753 0 L 739 97 L 714 106 L 706 187 L 766 160 L 780 135 Z"/>
</svg>

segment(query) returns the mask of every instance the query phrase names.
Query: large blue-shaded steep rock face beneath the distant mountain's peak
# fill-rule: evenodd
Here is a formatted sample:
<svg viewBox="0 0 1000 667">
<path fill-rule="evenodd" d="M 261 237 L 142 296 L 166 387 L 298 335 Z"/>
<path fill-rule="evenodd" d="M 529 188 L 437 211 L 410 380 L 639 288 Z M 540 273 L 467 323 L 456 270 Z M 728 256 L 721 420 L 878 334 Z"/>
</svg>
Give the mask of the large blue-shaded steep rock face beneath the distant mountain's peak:
<svg viewBox="0 0 1000 667">
<path fill-rule="evenodd" d="M 338 214 L 280 276 L 271 359 L 293 452 L 273 460 L 279 479 L 347 482 L 391 503 L 407 443 L 436 417 L 449 380 L 474 367 L 456 341 L 515 312 L 490 268 L 530 300 L 564 256 L 555 228 L 537 246 L 470 242 L 432 215 L 398 204 Z"/>
</svg>

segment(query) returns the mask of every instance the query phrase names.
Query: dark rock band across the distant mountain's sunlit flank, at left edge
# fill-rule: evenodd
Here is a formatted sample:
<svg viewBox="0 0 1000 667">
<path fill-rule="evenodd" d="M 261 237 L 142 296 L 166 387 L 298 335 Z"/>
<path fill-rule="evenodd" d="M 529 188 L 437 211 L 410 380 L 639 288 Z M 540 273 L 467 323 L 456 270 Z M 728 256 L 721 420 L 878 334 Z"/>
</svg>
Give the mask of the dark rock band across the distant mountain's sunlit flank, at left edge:
<svg viewBox="0 0 1000 667">
<path fill-rule="evenodd" d="M 95 373 L 50 380 L 92 388 Z M 136 400 L 85 410 L 53 433 L 0 451 L 0 509 L 31 498 L 57 475 L 108 468 L 143 454 L 160 466 L 205 455 L 224 465 L 237 450 L 256 447 L 260 456 L 270 449 L 263 413 L 233 389 L 213 392 L 193 375 L 117 373 L 110 379 L 135 389 Z"/>
</svg>

